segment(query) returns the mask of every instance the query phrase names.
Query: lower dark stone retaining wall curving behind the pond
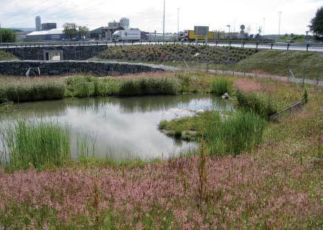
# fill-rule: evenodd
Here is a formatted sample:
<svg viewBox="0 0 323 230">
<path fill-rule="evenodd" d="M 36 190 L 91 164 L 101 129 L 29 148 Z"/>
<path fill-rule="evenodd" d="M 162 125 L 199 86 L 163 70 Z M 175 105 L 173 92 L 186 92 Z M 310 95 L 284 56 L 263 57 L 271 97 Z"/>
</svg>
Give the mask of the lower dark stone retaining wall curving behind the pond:
<svg viewBox="0 0 323 230">
<path fill-rule="evenodd" d="M 29 68 L 39 68 L 41 75 L 91 73 L 104 76 L 164 71 L 158 66 L 115 61 L 0 61 L 0 75 L 26 75 Z"/>
</svg>

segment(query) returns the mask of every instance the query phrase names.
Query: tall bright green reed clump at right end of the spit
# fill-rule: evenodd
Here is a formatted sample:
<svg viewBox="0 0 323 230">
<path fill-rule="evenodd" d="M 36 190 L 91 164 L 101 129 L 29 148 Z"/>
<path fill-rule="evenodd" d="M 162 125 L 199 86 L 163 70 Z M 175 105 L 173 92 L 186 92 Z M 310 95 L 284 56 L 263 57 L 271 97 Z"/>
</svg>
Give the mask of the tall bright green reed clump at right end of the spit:
<svg viewBox="0 0 323 230">
<path fill-rule="evenodd" d="M 218 113 L 205 131 L 210 155 L 239 155 L 261 142 L 266 121 L 259 115 L 237 111 L 222 119 Z"/>
</svg>

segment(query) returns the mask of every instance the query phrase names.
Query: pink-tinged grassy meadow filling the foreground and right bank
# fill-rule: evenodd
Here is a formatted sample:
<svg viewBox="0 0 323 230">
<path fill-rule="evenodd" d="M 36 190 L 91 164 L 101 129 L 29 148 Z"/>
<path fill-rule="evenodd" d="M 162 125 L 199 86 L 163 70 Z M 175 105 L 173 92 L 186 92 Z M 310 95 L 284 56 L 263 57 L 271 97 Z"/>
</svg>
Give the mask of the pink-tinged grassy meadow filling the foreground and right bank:
<svg viewBox="0 0 323 230">
<path fill-rule="evenodd" d="M 266 95 L 275 92 L 282 104 L 302 97 L 287 83 L 258 79 L 257 84 L 266 86 L 261 88 Z M 209 157 L 206 144 L 199 156 L 140 167 L 86 164 L 54 171 L 0 171 L 0 225 L 320 229 L 323 98 L 314 88 L 308 88 L 308 95 L 303 111 L 268 123 L 257 148 L 236 157 Z"/>
</svg>

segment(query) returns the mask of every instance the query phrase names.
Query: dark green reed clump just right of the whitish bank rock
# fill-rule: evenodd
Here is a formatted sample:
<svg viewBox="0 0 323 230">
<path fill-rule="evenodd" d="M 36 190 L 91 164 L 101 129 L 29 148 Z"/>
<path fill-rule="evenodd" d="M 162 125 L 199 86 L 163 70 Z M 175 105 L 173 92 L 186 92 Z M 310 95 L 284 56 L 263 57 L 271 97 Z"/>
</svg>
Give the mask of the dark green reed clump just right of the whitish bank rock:
<svg viewBox="0 0 323 230">
<path fill-rule="evenodd" d="M 261 117 L 269 117 L 278 112 L 275 102 L 270 97 L 259 93 L 243 93 L 237 90 L 238 107 L 244 111 L 250 111 Z"/>
</svg>

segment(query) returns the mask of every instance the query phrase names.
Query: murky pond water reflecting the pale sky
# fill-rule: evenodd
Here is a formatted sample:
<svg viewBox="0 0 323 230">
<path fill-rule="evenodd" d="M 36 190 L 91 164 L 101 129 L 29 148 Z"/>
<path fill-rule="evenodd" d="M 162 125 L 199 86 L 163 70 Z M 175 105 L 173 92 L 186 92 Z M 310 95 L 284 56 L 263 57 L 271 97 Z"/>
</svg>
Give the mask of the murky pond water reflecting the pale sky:
<svg viewBox="0 0 323 230">
<path fill-rule="evenodd" d="M 8 124 L 23 118 L 68 124 L 74 159 L 80 151 L 77 135 L 95 140 L 95 157 L 151 159 L 194 150 L 196 144 L 167 137 L 158 130 L 158 124 L 163 119 L 194 115 L 194 110 L 201 109 L 228 111 L 232 106 L 213 95 L 194 94 L 63 99 L 15 105 L 13 113 L 0 113 L 0 122 Z"/>
</svg>

